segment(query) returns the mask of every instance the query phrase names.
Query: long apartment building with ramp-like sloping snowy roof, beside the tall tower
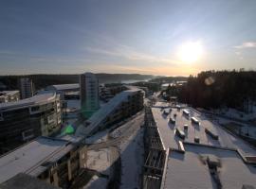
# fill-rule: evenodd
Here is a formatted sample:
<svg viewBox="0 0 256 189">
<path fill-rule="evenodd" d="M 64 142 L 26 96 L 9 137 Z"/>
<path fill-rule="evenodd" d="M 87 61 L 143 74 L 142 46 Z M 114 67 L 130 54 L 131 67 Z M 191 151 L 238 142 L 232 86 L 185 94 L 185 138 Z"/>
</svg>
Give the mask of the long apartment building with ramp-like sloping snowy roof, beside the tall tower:
<svg viewBox="0 0 256 189">
<path fill-rule="evenodd" d="M 125 91 L 116 94 L 98 112 L 86 120 L 77 129 L 76 135 L 92 135 L 139 112 L 143 109 L 143 96 L 144 92 L 137 87 L 126 86 Z"/>
</svg>

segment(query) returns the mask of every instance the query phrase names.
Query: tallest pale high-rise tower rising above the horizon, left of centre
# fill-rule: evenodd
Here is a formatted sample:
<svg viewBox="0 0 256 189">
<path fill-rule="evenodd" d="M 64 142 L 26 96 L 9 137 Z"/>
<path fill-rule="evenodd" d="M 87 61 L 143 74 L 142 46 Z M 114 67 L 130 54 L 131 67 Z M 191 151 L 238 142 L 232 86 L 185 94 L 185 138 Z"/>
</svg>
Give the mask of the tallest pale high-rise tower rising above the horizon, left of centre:
<svg viewBox="0 0 256 189">
<path fill-rule="evenodd" d="M 81 110 L 84 118 L 89 118 L 100 108 L 99 80 L 92 73 L 80 76 Z"/>
</svg>

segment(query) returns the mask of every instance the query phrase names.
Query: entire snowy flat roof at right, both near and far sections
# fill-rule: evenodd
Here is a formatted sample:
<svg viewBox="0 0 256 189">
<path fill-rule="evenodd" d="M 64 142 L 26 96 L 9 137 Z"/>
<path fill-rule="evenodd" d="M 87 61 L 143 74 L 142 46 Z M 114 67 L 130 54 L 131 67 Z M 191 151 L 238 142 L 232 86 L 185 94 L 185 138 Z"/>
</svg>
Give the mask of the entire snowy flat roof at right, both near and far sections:
<svg viewBox="0 0 256 189">
<path fill-rule="evenodd" d="M 170 109 L 163 104 L 161 107 L 165 107 L 164 110 Z M 170 149 L 162 188 L 217 188 L 210 176 L 208 165 L 202 163 L 202 158 L 212 155 L 221 162 L 218 171 L 223 188 L 241 189 L 243 184 L 256 185 L 256 168 L 243 160 L 247 159 L 247 156 L 256 156 L 255 147 L 192 108 L 186 108 L 190 112 L 189 115 L 176 108 L 165 115 L 161 107 L 152 108 L 152 112 L 161 142 L 166 150 Z M 174 118 L 174 114 L 175 124 L 171 124 L 169 119 Z M 192 117 L 199 121 L 199 125 L 192 124 Z M 188 125 L 188 129 L 184 129 L 184 125 Z M 177 136 L 176 129 L 184 130 L 184 140 Z M 218 140 L 214 140 L 206 129 L 216 134 Z M 195 143 L 195 138 L 199 138 L 199 145 Z M 176 151 L 180 141 L 184 142 L 185 153 Z"/>
</svg>

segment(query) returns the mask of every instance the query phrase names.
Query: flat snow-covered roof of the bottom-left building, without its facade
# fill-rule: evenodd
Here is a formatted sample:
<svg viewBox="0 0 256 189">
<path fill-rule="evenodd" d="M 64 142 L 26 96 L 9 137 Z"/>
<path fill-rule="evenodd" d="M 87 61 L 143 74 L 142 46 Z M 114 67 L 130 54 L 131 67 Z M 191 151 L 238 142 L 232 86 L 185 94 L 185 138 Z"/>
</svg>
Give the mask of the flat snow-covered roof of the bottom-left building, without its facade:
<svg viewBox="0 0 256 189">
<path fill-rule="evenodd" d="M 46 166 L 59 160 L 73 147 L 68 141 L 48 137 L 38 137 L 25 146 L 21 146 L 0 158 L 0 183 L 9 180 L 18 173 L 38 176 Z"/>
</svg>

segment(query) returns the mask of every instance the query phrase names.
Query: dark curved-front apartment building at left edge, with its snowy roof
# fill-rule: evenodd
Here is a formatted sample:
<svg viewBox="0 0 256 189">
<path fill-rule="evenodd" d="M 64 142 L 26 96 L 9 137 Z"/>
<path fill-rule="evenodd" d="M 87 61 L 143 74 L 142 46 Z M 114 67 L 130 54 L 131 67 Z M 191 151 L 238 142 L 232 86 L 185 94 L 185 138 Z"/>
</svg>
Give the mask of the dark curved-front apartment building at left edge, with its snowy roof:
<svg viewBox="0 0 256 189">
<path fill-rule="evenodd" d="M 61 129 L 60 94 L 38 94 L 15 102 L 0 103 L 0 154 L 38 136 Z"/>
</svg>

